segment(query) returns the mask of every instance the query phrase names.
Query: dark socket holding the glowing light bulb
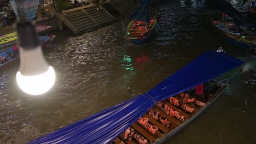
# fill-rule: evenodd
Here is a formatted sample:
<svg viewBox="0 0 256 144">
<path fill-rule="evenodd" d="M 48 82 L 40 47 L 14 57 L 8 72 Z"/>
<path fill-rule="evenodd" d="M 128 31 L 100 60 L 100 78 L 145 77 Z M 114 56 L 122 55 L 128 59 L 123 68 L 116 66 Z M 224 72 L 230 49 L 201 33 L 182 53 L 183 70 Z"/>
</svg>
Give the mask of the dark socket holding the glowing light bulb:
<svg viewBox="0 0 256 144">
<path fill-rule="evenodd" d="M 20 20 L 16 23 L 18 34 L 18 45 L 23 49 L 35 49 L 39 46 L 39 36 L 36 33 L 36 27 L 32 22 Z"/>
</svg>

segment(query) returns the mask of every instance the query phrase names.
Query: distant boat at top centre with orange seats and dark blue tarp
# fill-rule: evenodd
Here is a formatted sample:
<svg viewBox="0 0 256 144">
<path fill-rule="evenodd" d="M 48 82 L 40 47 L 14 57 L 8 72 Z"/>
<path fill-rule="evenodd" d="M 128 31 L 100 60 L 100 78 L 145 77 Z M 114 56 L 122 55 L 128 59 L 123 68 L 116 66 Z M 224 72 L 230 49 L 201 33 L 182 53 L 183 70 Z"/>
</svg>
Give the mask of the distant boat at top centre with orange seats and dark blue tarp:
<svg viewBox="0 0 256 144">
<path fill-rule="evenodd" d="M 154 32 L 156 26 L 156 8 L 150 7 L 155 0 L 139 0 L 139 8 L 130 17 L 130 24 L 127 26 L 126 34 L 133 44 L 144 43 Z"/>
</svg>

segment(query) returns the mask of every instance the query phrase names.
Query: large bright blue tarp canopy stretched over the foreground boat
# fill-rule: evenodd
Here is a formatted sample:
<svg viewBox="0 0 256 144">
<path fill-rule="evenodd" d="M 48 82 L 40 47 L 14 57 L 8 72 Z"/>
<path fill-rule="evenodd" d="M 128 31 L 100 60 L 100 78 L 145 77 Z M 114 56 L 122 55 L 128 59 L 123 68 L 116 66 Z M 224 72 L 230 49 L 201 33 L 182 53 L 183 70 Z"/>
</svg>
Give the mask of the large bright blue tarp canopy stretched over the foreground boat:
<svg viewBox="0 0 256 144">
<path fill-rule="evenodd" d="M 156 101 L 184 92 L 244 62 L 220 52 L 205 52 L 142 95 L 40 137 L 30 143 L 110 143 L 144 115 Z"/>
</svg>

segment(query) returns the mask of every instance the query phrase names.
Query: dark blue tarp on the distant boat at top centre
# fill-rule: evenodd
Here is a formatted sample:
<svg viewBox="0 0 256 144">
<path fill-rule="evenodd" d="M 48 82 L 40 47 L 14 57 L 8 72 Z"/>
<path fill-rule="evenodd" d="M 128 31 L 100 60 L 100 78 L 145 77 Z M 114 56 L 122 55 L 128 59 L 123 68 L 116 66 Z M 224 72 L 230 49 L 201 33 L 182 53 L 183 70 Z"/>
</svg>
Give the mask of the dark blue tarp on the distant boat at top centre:
<svg viewBox="0 0 256 144">
<path fill-rule="evenodd" d="M 155 0 L 139 0 L 139 8 L 132 14 L 130 20 L 139 20 L 150 23 L 149 19 L 149 5 L 153 4 Z"/>
</svg>

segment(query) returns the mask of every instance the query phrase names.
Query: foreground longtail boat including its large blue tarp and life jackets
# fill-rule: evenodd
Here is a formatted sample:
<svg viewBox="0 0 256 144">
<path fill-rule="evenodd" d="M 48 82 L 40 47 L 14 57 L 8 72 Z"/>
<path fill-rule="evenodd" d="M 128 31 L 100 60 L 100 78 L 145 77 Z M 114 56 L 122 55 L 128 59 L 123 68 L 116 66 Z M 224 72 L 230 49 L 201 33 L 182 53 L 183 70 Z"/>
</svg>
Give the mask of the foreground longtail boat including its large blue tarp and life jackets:
<svg viewBox="0 0 256 144">
<path fill-rule="evenodd" d="M 220 52 L 202 53 L 150 91 L 29 143 L 162 143 L 205 111 L 232 77 L 225 83 L 214 78 L 243 63 Z M 202 83 L 209 84 L 205 90 Z M 184 93 L 194 87 L 209 96 L 205 104 Z"/>
</svg>

